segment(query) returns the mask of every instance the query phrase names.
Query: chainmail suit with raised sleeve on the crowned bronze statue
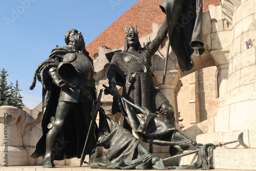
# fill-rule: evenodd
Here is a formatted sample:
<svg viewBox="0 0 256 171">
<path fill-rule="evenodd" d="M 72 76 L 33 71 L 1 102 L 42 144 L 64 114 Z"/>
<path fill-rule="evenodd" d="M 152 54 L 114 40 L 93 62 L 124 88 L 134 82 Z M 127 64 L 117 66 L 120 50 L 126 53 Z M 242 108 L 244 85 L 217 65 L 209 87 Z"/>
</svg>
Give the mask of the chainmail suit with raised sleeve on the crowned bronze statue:
<svg viewBox="0 0 256 171">
<path fill-rule="evenodd" d="M 165 20 L 159 29 L 156 38 L 151 42 L 151 44 L 144 48 L 141 48 L 140 44 L 138 44 L 138 51 L 127 51 L 129 49 L 129 45 L 127 44 L 127 37 L 125 37 L 125 45 L 123 51 L 141 58 L 147 68 L 146 73 L 143 72 L 140 63 L 134 57 L 132 57 L 131 61 L 125 62 L 124 58 L 127 55 L 122 52 L 115 53 L 108 72 L 109 81 L 114 79 L 117 81 L 118 85 L 123 86 L 122 95 L 124 97 L 126 97 L 129 101 L 147 108 L 153 112 L 159 110 L 162 104 L 168 102 L 164 95 L 155 88 L 155 84 L 149 70 L 152 66 L 151 57 L 158 50 L 161 42 L 166 37 L 166 34 L 167 24 Z M 127 75 L 131 75 L 134 72 L 138 73 L 132 82 L 130 94 L 126 96 L 125 80 Z"/>
</svg>

